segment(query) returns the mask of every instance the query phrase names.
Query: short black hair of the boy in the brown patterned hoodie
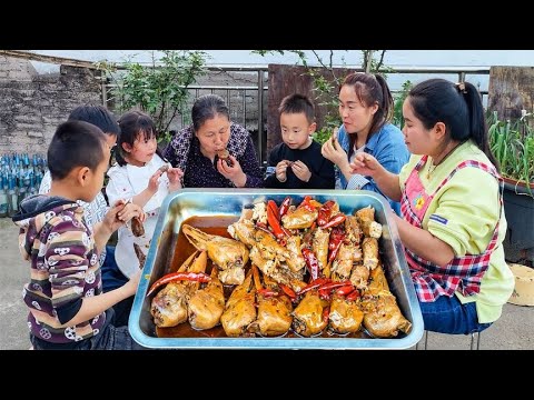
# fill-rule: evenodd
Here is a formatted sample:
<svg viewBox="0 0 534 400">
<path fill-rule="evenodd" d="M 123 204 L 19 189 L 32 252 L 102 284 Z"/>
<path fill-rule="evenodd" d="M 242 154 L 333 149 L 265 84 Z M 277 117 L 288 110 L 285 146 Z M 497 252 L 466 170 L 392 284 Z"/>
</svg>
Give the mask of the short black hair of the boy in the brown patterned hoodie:
<svg viewBox="0 0 534 400">
<path fill-rule="evenodd" d="M 92 123 L 67 121 L 53 133 L 48 147 L 48 169 L 53 179 L 66 178 L 76 167 L 95 171 L 103 160 L 106 136 Z"/>
</svg>

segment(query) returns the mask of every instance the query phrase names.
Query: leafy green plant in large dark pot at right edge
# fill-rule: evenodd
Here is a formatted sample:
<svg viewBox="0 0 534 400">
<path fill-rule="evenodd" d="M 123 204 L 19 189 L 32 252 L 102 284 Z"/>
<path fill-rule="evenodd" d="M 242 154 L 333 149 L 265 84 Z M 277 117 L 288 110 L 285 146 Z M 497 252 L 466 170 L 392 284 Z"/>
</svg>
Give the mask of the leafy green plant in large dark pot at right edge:
<svg viewBox="0 0 534 400">
<path fill-rule="evenodd" d="M 490 118 L 490 147 L 504 179 L 504 210 L 508 229 L 504 241 L 506 259 L 534 261 L 534 129 L 532 113 L 524 110 L 516 121 Z"/>
</svg>

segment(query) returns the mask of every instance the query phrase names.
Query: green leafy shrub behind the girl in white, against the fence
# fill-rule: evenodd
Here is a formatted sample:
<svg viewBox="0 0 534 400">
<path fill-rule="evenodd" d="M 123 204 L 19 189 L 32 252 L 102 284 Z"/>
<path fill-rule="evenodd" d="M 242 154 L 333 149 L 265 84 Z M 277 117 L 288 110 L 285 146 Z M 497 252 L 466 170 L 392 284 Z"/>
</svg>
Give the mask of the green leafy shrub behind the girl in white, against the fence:
<svg viewBox="0 0 534 400">
<path fill-rule="evenodd" d="M 160 58 L 156 54 L 162 53 Z M 110 81 L 111 100 L 120 111 L 138 108 L 148 113 L 160 133 L 169 140 L 172 119 L 182 112 L 188 101 L 188 87 L 206 73 L 207 53 L 190 50 L 151 51 L 149 66 L 132 62 L 120 67 L 100 61 L 97 63 Z"/>
</svg>

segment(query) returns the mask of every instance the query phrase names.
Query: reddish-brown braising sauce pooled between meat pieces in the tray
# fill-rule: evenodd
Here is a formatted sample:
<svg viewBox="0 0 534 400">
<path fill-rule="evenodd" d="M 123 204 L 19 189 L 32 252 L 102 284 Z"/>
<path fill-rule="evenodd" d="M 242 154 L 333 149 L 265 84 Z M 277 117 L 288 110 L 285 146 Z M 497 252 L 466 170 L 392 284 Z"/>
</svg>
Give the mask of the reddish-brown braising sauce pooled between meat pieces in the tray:
<svg viewBox="0 0 534 400">
<path fill-rule="evenodd" d="M 216 216 L 216 217 L 191 217 L 184 221 L 191 227 L 200 229 L 201 231 L 209 233 L 209 234 L 218 234 L 225 238 L 230 238 L 230 234 L 227 231 L 229 224 L 237 221 L 239 218 L 236 217 L 227 217 L 227 216 Z M 172 254 L 172 261 L 169 272 L 175 272 L 180 268 L 184 261 L 195 252 L 195 247 L 187 240 L 186 236 L 180 229 L 178 233 L 177 244 L 175 248 L 175 253 Z M 250 267 L 250 262 L 247 264 L 246 269 Z M 214 264 L 211 260 L 208 258 L 208 264 L 206 267 L 206 273 L 210 273 L 211 268 Z M 231 291 L 234 290 L 233 286 L 225 286 L 225 299 L 228 300 L 230 297 Z M 362 323 L 363 329 L 363 323 Z M 172 328 L 158 328 L 156 327 L 156 336 L 158 338 L 226 338 L 225 330 L 222 326 L 217 326 L 211 329 L 206 330 L 196 330 L 191 328 L 188 321 L 182 322 Z M 254 334 L 251 334 L 254 337 Z M 287 332 L 285 338 L 297 338 L 299 337 L 291 330 Z M 339 337 L 348 337 L 348 338 L 360 338 L 360 339 L 369 339 L 370 337 L 366 334 L 366 332 L 356 332 L 349 334 L 337 334 L 328 332 L 327 330 L 323 331 L 320 338 L 339 338 Z"/>
</svg>

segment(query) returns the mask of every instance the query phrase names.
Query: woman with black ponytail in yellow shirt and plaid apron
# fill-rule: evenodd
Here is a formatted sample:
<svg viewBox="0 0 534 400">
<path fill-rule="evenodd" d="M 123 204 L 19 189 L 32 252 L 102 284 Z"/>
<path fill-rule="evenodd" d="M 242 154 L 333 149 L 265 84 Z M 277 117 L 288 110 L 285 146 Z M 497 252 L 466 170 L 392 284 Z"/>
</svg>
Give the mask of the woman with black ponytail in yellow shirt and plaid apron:
<svg viewBox="0 0 534 400">
<path fill-rule="evenodd" d="M 403 217 L 393 217 L 425 329 L 479 332 L 501 317 L 514 289 L 502 247 L 502 180 L 479 93 L 467 82 L 431 79 L 409 91 L 403 116 L 413 156 L 398 176 L 364 153 L 350 167 L 400 201 Z"/>
</svg>

